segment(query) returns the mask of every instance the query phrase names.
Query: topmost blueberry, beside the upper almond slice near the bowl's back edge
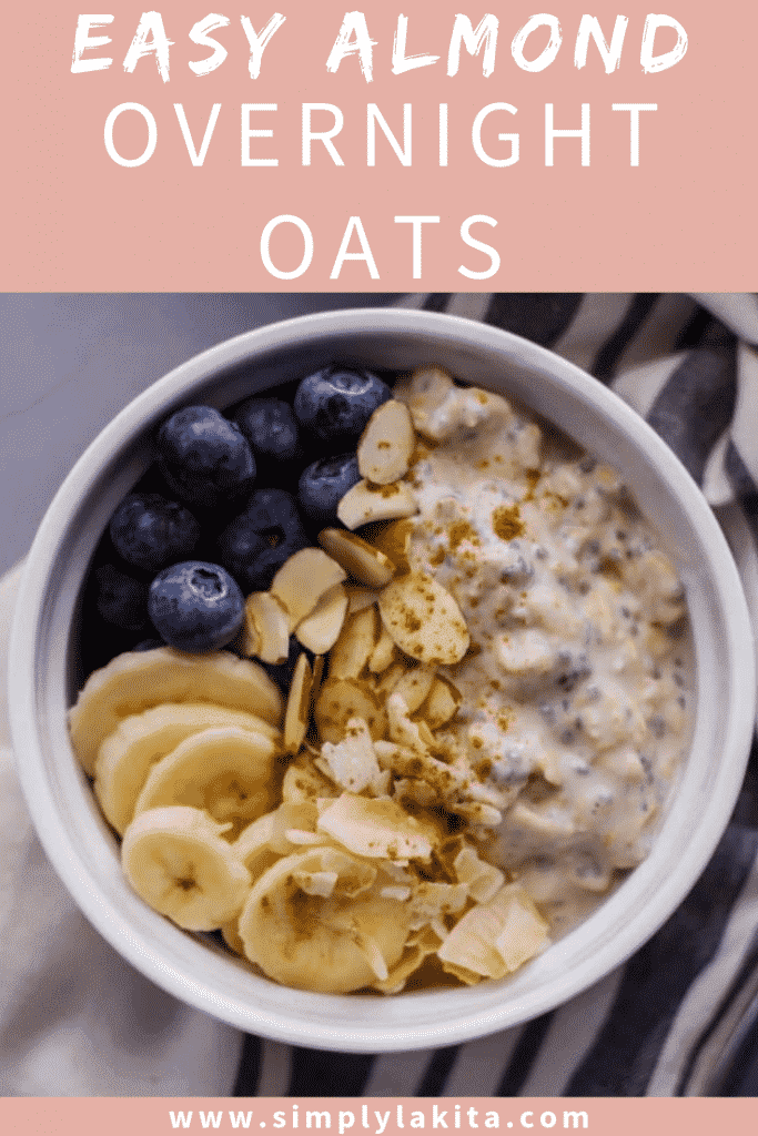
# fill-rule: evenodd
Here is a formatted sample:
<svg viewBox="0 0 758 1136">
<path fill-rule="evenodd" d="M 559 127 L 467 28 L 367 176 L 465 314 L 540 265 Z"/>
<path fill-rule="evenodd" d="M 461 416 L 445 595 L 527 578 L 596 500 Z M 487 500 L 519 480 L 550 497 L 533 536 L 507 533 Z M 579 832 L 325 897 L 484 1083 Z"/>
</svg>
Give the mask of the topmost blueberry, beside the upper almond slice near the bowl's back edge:
<svg viewBox="0 0 758 1136">
<path fill-rule="evenodd" d="M 294 395 L 298 421 L 318 442 L 344 450 L 360 437 L 390 387 L 367 370 L 326 367 L 300 383 Z"/>
</svg>

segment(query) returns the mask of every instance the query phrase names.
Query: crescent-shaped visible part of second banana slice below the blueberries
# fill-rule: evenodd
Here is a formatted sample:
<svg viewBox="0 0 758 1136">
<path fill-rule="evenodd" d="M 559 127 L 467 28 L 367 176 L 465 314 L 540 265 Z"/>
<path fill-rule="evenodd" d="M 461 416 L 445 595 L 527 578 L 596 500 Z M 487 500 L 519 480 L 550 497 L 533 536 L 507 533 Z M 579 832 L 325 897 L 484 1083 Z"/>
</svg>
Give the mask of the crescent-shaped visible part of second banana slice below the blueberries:
<svg viewBox="0 0 758 1136">
<path fill-rule="evenodd" d="M 118 724 L 98 751 L 94 793 L 119 836 L 134 816 L 136 799 L 156 762 L 191 734 L 219 726 L 263 734 L 274 743 L 281 740 L 278 729 L 256 715 L 201 702 L 168 702 Z"/>
</svg>

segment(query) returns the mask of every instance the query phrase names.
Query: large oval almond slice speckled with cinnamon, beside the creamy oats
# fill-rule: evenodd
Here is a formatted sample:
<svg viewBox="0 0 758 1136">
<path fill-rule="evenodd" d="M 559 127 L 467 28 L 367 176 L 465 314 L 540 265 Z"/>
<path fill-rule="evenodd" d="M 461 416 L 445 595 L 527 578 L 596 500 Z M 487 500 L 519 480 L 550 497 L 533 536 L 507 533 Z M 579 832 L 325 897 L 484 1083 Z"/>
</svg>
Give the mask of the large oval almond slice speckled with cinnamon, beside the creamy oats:
<svg viewBox="0 0 758 1136">
<path fill-rule="evenodd" d="M 460 608 L 426 573 L 408 573 L 388 584 L 378 609 L 389 634 L 411 659 L 451 665 L 468 650 L 470 636 Z"/>
</svg>

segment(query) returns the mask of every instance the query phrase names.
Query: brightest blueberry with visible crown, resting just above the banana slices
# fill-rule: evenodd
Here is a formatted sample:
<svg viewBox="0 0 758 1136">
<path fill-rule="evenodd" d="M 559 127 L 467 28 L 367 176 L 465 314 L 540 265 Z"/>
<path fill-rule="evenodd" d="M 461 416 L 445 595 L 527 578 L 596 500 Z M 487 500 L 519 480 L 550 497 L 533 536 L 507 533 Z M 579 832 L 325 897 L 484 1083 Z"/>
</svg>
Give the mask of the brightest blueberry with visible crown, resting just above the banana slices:
<svg viewBox="0 0 758 1136">
<path fill-rule="evenodd" d="M 148 611 L 158 634 L 177 651 L 217 651 L 242 625 L 242 592 L 220 565 L 185 560 L 158 573 Z"/>
</svg>

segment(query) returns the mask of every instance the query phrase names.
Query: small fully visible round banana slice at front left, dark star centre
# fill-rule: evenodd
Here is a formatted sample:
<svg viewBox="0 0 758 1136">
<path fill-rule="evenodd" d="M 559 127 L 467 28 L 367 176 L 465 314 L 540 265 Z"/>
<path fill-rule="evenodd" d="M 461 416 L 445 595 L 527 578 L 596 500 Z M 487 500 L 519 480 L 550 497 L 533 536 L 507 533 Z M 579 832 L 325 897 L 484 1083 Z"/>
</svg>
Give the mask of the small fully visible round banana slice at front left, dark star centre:
<svg viewBox="0 0 758 1136">
<path fill-rule="evenodd" d="M 220 836 L 226 827 L 185 805 L 143 812 L 124 834 L 126 878 L 145 903 L 185 930 L 216 930 L 250 891 L 250 872 Z"/>
</svg>

